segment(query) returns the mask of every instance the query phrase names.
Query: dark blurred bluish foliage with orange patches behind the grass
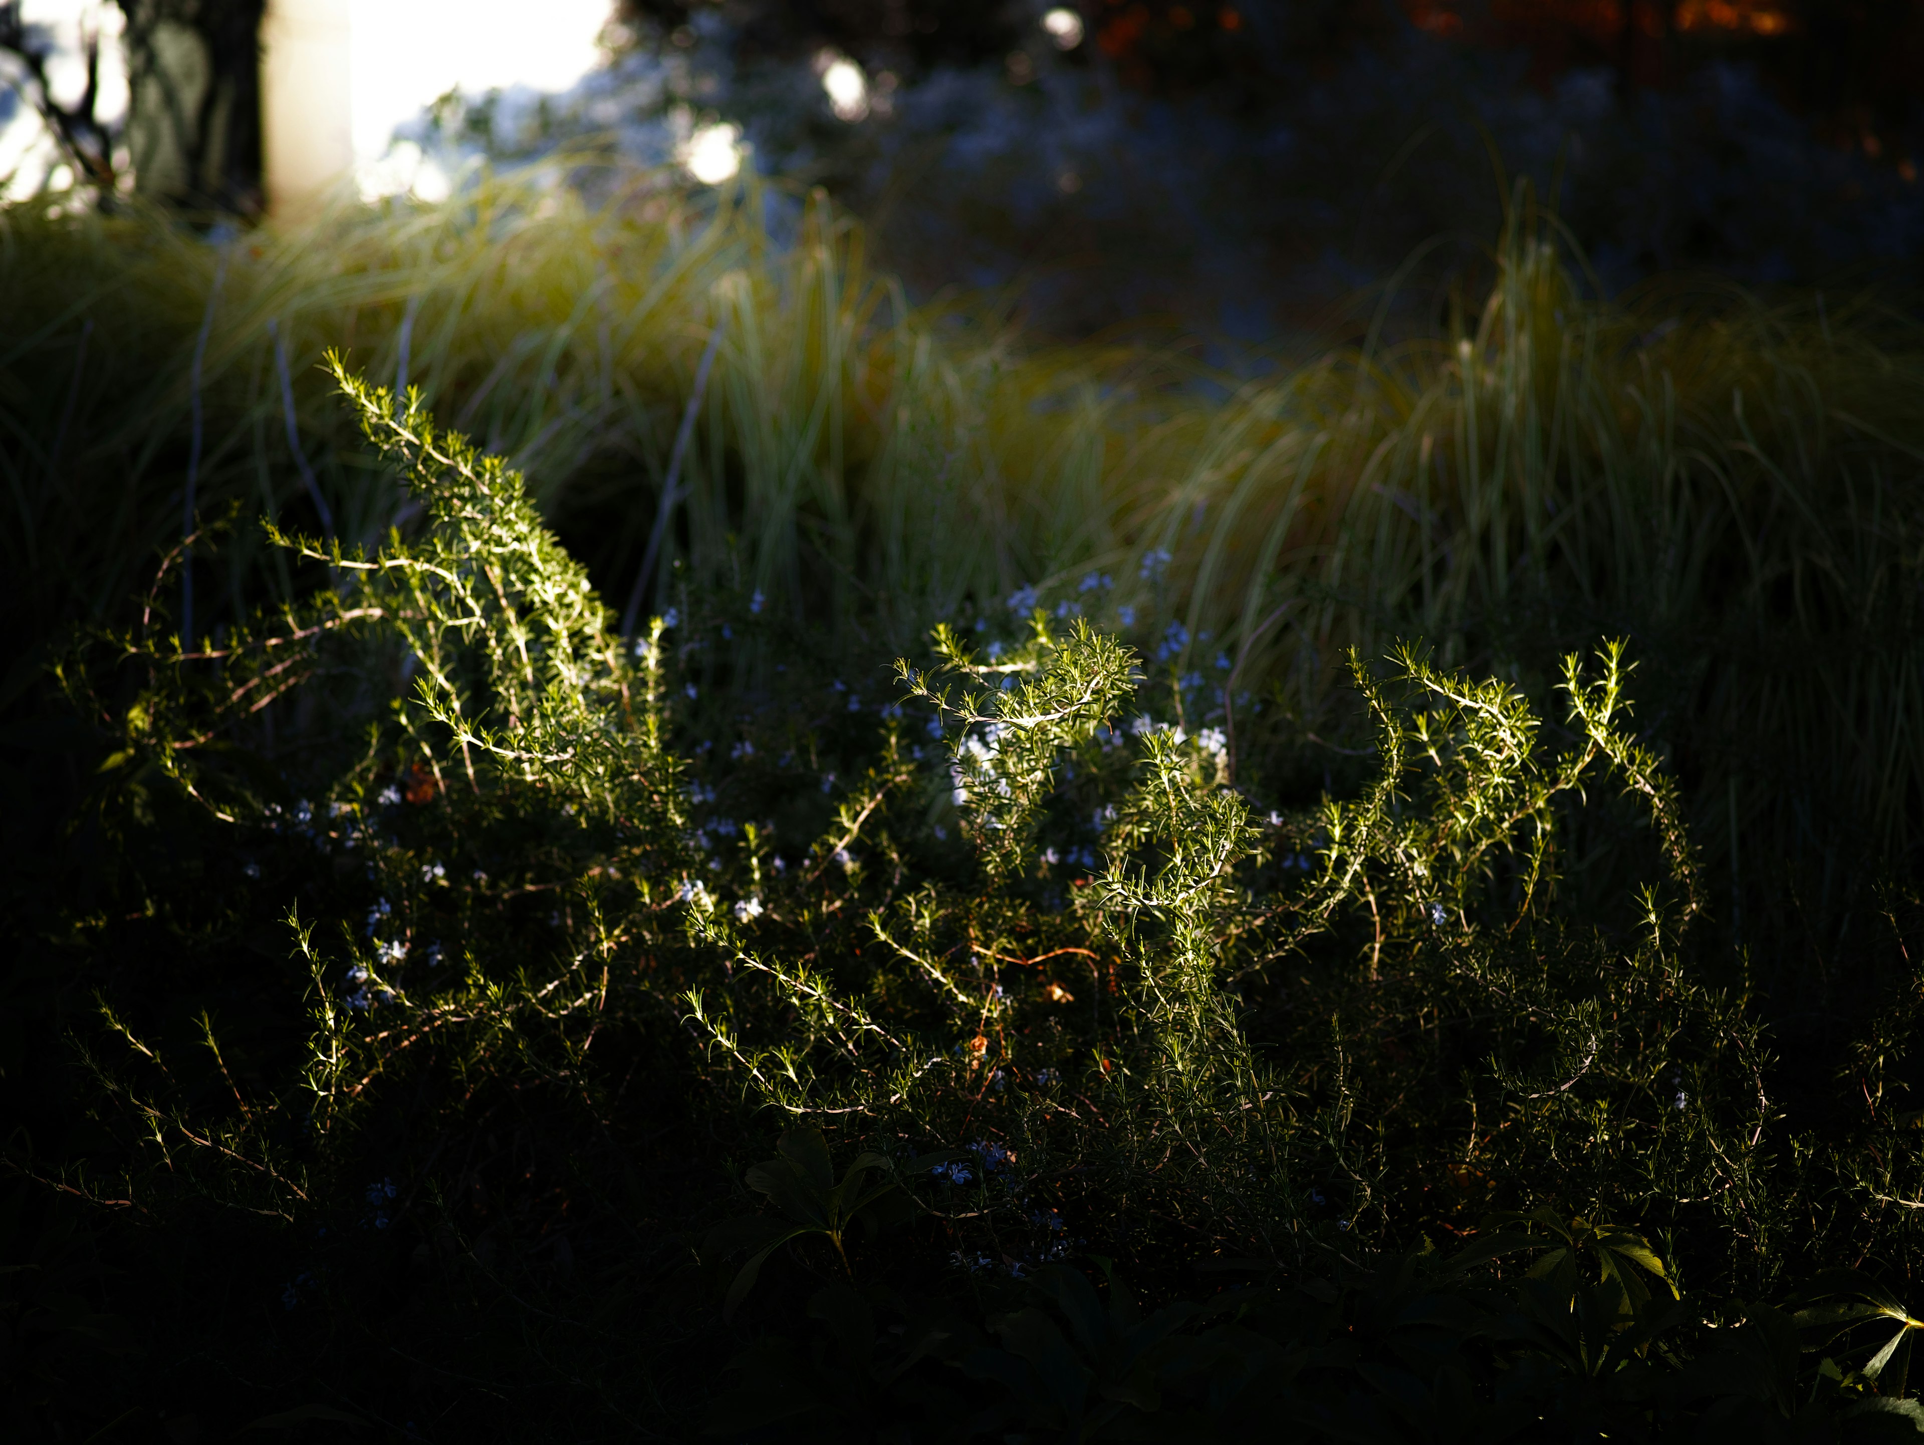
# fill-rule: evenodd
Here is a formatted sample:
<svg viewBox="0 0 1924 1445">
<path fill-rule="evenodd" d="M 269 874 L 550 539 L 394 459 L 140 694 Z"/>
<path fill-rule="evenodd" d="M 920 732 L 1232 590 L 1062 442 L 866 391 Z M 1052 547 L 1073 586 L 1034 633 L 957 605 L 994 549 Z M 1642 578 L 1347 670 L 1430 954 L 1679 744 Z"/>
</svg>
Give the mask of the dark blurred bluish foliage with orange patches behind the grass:
<svg viewBox="0 0 1924 1445">
<path fill-rule="evenodd" d="M 1020 285 L 1056 335 L 1314 344 L 1393 273 L 1420 329 L 1485 264 L 1514 177 L 1607 291 L 1695 267 L 1909 285 L 1924 244 L 1907 0 L 1104 0 L 1058 31 L 1039 4 L 621 13 L 575 96 L 452 104 L 448 135 L 533 154 L 614 127 L 658 154 L 650 121 L 735 123 L 766 171 L 862 214 L 918 294 Z M 833 58 L 866 85 L 845 114 Z"/>
</svg>

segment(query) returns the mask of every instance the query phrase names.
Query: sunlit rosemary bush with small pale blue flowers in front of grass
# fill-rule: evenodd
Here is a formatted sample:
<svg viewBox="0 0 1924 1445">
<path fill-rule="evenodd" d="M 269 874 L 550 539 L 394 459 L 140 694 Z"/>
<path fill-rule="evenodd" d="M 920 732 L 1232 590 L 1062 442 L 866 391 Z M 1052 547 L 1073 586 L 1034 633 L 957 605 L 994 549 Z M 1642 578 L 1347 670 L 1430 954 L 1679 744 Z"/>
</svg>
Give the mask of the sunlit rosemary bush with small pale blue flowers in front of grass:
<svg viewBox="0 0 1924 1445">
<path fill-rule="evenodd" d="M 643 1291 L 654 1328 L 723 1305 L 756 1341 L 737 1360 L 748 1393 L 708 1412 L 722 1433 L 883 1408 L 910 1368 L 941 1376 L 933 1399 L 993 1382 L 974 1414 L 931 1397 L 883 1410 L 931 1439 L 1020 1422 L 1235 1433 L 1274 1410 L 1405 1437 L 1453 1399 L 1526 1435 L 1799 1410 L 1847 1433 L 1912 1428 L 1893 1364 L 1911 1316 L 1870 1278 L 1820 1270 L 1876 1253 L 1909 1276 L 1912 1231 L 1868 1208 L 1901 1195 L 1878 1195 L 1851 1149 L 1901 1170 L 1914 1147 L 1895 1114 L 1882 1149 L 1862 1129 L 1784 1128 L 1741 960 L 1701 922 L 1678 789 L 1630 725 L 1624 645 L 1564 660 L 1557 725 L 1503 679 L 1354 652 L 1376 773 L 1308 808 L 1253 806 L 1228 729 L 1177 720 L 1179 679 L 1145 672 L 1101 618 L 1056 625 L 1043 608 L 937 627 L 879 706 L 791 652 L 787 695 L 731 698 L 723 758 L 714 714 L 689 727 L 693 677 L 731 643 L 772 641 L 758 600 L 685 589 L 625 639 L 516 471 L 437 427 L 419 394 L 331 366 L 421 508 L 410 533 L 366 552 L 269 529 L 327 585 L 217 645 L 150 600 L 140 627 L 62 664 L 75 710 L 115 735 L 100 825 L 171 812 L 244 860 L 246 883 L 225 885 L 252 895 L 242 914 L 296 899 L 292 962 L 256 983 L 273 1026 L 237 1041 L 202 1010 L 183 1066 L 156 1039 L 179 1031 L 179 1002 L 148 995 L 129 1016 L 102 993 L 83 1045 L 94 1158 L 17 1160 L 42 1185 L 160 1230 L 214 1210 L 277 1222 L 281 1249 L 346 1235 L 291 1262 L 289 1316 L 342 1310 L 367 1287 L 364 1241 L 406 1230 L 408 1318 L 460 1318 L 479 1281 L 525 1314 L 533 1268 L 575 1301 L 556 1320 L 618 1341 L 623 1291 L 558 1283 L 570 1239 L 616 1274 L 623 1256 L 681 1258 L 679 1283 Z M 310 756 L 264 768 L 260 716 L 302 697 Z M 1643 864 L 1624 908 L 1585 916 L 1568 837 L 1612 812 Z M 139 868 L 135 891 L 164 870 Z M 164 906 L 192 933 L 183 902 Z M 1886 1024 L 1859 1049 L 1891 1039 Z M 637 1070 L 654 1076 L 646 1103 Z M 677 1091 L 681 1128 L 706 1118 L 739 1151 L 764 1120 L 791 1122 L 747 1172 L 781 1218 L 727 1218 L 747 1154 L 723 1153 L 723 1189 L 681 1201 L 670 1241 L 637 1251 L 620 1220 L 654 1191 L 631 1162 L 623 1179 L 635 1114 Z M 506 1120 L 529 1158 L 512 1212 L 489 1206 L 475 1164 Z M 818 1235 L 833 1255 L 808 1253 Z M 1451 1237 L 1474 1241 L 1395 1262 Z M 764 1285 L 783 1245 L 795 1262 Z M 1522 1251 L 1539 1256 L 1524 1283 L 1489 1272 Z M 1106 1316 L 1066 1264 L 1091 1255 L 1129 1281 L 1110 1280 Z M 808 1314 L 854 1351 L 833 1389 L 781 1343 L 808 1270 L 829 1278 Z M 1127 1305 L 1131 1287 L 1193 1293 L 1210 1270 L 1247 1283 L 1151 1324 Z M 1685 1272 L 1697 1312 L 1678 1303 Z M 997 1314 L 1029 1278 L 1043 1303 Z M 1795 1314 L 1745 1303 L 1791 1285 L 1809 1295 Z M 1368 1370 L 1328 1376 L 1331 1330 L 1364 1330 L 1406 1374 L 1397 1326 L 1368 1320 L 1414 1299 L 1455 1310 L 1430 1349 L 1456 1362 L 1410 1376 L 1420 1401 Z M 897 1366 L 864 1355 L 877 1306 L 933 1330 L 925 1347 Z M 1749 1345 L 1726 1358 L 1705 1335 L 1720 1320 L 1749 1320 L 1734 1339 L 1759 1349 L 1787 1330 L 1789 1356 L 1745 1374 Z M 1799 1364 L 1799 1331 L 1820 1349 L 1878 1320 L 1897 1322 L 1891 1347 L 1845 1339 Z M 421 1368 L 448 1376 L 452 1339 L 435 1343 Z M 696 1349 L 714 1387 L 722 1341 Z M 695 1428 L 706 1391 L 587 1356 L 600 1374 L 575 1418 Z M 1226 1358 L 1243 1383 L 1197 1395 Z M 443 1389 L 418 1378 L 394 1399 L 421 1410 Z M 1183 1401 L 1189 1424 L 1149 1424 Z M 256 1424 L 356 1403 L 337 1391 Z"/>
</svg>

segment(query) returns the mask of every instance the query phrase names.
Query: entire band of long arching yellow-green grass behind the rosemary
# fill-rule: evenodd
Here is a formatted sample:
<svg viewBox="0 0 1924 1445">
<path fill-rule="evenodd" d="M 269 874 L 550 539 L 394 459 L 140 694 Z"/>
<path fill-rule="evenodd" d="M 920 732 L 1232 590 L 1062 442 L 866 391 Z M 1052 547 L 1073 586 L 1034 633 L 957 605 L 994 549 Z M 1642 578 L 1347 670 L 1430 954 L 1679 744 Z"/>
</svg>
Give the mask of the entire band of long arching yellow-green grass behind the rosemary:
<svg viewBox="0 0 1924 1445">
<path fill-rule="evenodd" d="M 443 206 L 214 244 L 17 206 L 0 214 L 10 616 L 38 652 L 144 591 L 183 531 L 196 394 L 198 514 L 240 514 L 198 548 L 196 629 L 298 585 L 250 525 L 319 525 L 275 335 L 333 521 L 375 543 L 404 498 L 316 364 L 341 348 L 391 381 L 404 331 L 408 379 L 525 469 L 620 612 L 714 339 L 643 604 L 675 577 L 762 591 L 881 662 L 1022 583 L 1054 602 L 1106 570 L 1156 637 L 1187 625 L 1177 672 L 1220 683 L 1216 654 L 1235 664 L 1241 725 L 1268 689 L 1266 716 L 1299 731 L 1326 725 L 1353 643 L 1422 637 L 1541 691 L 1555 652 L 1626 633 L 1707 850 L 1759 883 L 1801 858 L 1822 912 L 1857 854 L 1899 866 L 1924 822 L 1924 339 L 1837 298 L 1597 300 L 1551 237 L 1518 206 L 1458 319 L 1395 344 L 1372 327 L 1224 398 L 1177 356 L 912 306 L 860 227 L 756 183 L 489 177 Z M 1154 548 L 1162 581 L 1137 566 Z"/>
</svg>

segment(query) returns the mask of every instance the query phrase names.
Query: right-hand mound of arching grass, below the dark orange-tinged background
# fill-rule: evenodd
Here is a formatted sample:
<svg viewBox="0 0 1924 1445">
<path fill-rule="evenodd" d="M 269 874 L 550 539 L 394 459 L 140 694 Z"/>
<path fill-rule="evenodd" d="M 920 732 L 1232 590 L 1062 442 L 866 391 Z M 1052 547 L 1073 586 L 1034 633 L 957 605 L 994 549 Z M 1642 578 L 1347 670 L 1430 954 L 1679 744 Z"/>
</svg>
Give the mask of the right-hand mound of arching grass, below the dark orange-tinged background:
<svg viewBox="0 0 1924 1445">
<path fill-rule="evenodd" d="M 1351 645 L 1420 635 L 1541 697 L 1558 646 L 1635 639 L 1699 837 L 1734 883 L 1816 870 L 1835 924 L 1843 874 L 1909 854 L 1924 804 L 1918 341 L 1822 296 L 1587 300 L 1516 221 L 1445 333 L 1147 433 L 1131 491 L 1168 481 L 1129 531 L 1177 556 L 1187 633 L 1303 716 Z"/>
</svg>

